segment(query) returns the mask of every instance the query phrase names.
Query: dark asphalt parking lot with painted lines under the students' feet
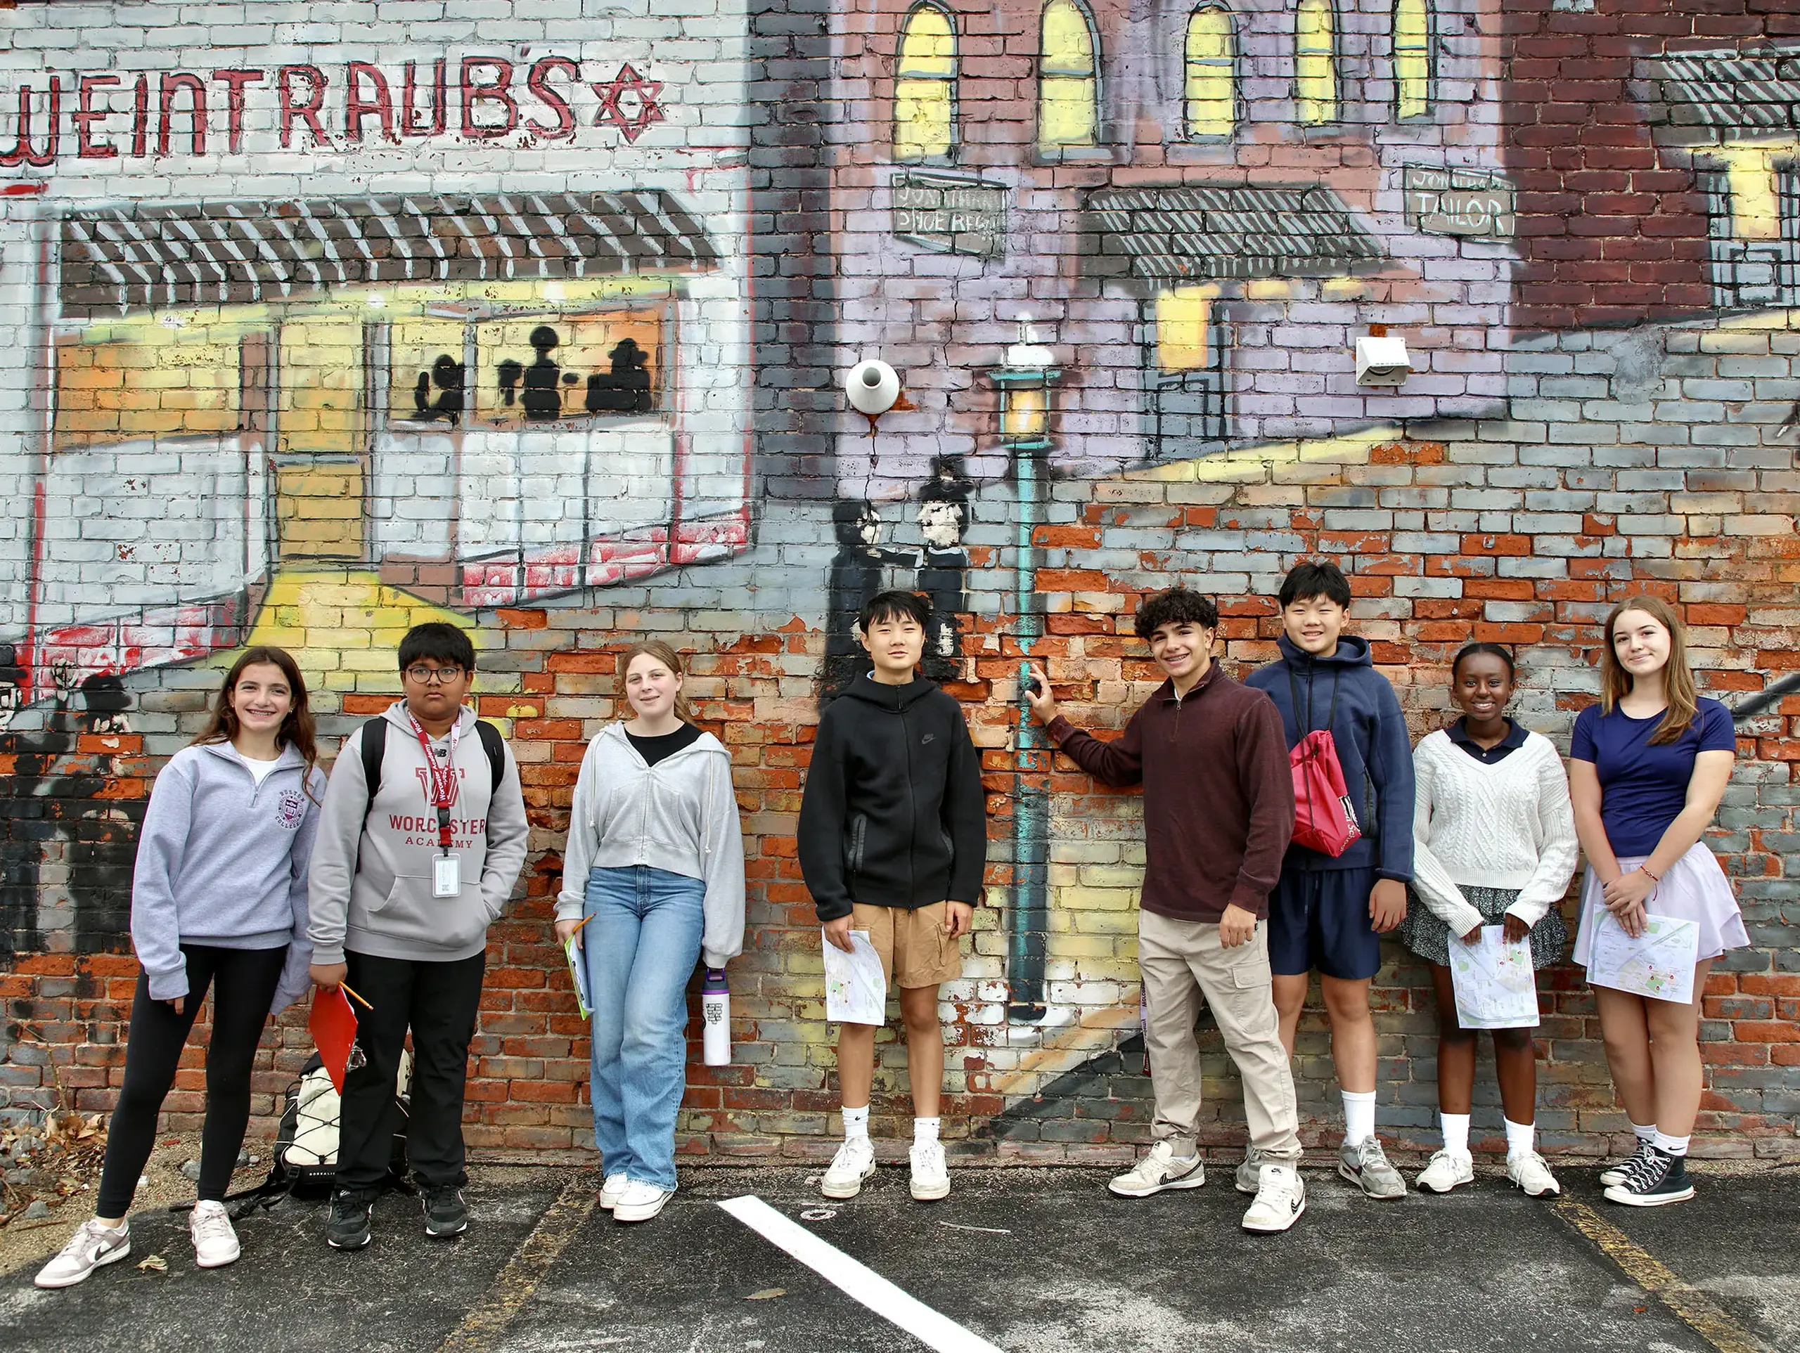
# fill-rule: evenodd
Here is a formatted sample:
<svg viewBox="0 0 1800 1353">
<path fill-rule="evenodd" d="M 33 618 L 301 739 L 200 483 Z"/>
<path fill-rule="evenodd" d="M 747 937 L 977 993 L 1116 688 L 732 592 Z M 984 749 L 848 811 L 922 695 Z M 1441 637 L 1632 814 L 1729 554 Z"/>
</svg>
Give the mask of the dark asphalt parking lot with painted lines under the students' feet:
<svg viewBox="0 0 1800 1353">
<path fill-rule="evenodd" d="M 1309 1171 L 1309 1211 L 1285 1236 L 1238 1229 L 1228 1169 L 1138 1202 L 1085 1169 L 959 1169 L 931 1205 L 907 1196 L 904 1169 L 848 1204 L 821 1200 L 815 1173 L 689 1169 L 661 1218 L 626 1227 L 592 1207 L 592 1173 L 484 1168 L 455 1241 L 428 1241 L 418 1202 L 389 1195 L 374 1243 L 338 1254 L 324 1204 L 288 1200 L 243 1220 L 243 1259 L 211 1272 L 194 1268 L 182 1216 L 142 1213 L 131 1258 L 81 1286 L 40 1292 L 31 1267 L 0 1277 L 0 1348 L 1800 1349 L 1791 1168 L 1708 1173 L 1692 1204 L 1654 1211 L 1602 1202 L 1577 1169 L 1557 1202 L 1489 1171 L 1449 1198 L 1393 1204 Z M 734 1198 L 767 1211 L 738 1204 L 747 1223 L 720 1205 Z M 763 1231 L 799 1234 L 815 1267 Z M 137 1267 L 153 1254 L 166 1270 Z"/>
</svg>

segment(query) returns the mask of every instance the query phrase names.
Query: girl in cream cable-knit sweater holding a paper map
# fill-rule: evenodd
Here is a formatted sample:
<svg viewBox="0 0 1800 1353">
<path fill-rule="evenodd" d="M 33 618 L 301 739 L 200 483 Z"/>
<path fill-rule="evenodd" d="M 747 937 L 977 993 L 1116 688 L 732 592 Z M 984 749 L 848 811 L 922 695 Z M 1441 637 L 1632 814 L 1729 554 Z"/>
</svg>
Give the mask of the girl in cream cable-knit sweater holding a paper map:
<svg viewBox="0 0 1800 1353">
<path fill-rule="evenodd" d="M 1474 943 L 1505 925 L 1530 941 L 1532 966 L 1562 955 L 1568 932 L 1557 903 L 1575 873 L 1575 817 L 1562 759 L 1548 738 L 1507 718 L 1516 675 L 1498 644 L 1469 644 L 1451 666 L 1451 700 L 1463 716 L 1413 750 L 1413 905 L 1400 937 L 1429 959 L 1438 997 L 1438 1110 L 1444 1150 L 1418 1187 L 1449 1193 L 1474 1182 L 1469 1112 L 1474 1029 L 1456 1018 L 1451 936 Z M 1422 903 L 1422 905 L 1420 905 Z M 1494 1065 L 1507 1114 L 1507 1177 L 1532 1196 L 1559 1193 L 1535 1150 L 1537 1065 L 1530 1029 L 1494 1029 Z"/>
</svg>

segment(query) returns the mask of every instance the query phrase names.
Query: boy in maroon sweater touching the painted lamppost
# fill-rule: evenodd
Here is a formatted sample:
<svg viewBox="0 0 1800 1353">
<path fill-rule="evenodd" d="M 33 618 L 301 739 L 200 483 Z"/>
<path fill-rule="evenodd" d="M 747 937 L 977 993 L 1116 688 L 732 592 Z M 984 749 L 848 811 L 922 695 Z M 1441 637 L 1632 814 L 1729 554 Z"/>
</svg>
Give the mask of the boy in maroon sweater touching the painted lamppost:
<svg viewBox="0 0 1800 1353">
<path fill-rule="evenodd" d="M 1138 900 L 1138 968 L 1148 1006 L 1145 1045 L 1156 1069 L 1154 1144 L 1111 1182 L 1145 1198 L 1195 1189 L 1201 1164 L 1201 997 L 1244 1081 L 1251 1151 L 1237 1187 L 1255 1193 L 1246 1231 L 1287 1231 L 1307 1207 L 1300 1178 L 1300 1114 L 1282 1049 L 1260 925 L 1294 829 L 1294 781 L 1282 716 L 1262 691 L 1213 662 L 1219 610 L 1172 588 L 1148 597 L 1138 637 L 1168 676 L 1116 741 L 1100 741 L 1057 712 L 1037 668 L 1031 712 L 1087 774 L 1143 784 L 1145 871 Z"/>
</svg>

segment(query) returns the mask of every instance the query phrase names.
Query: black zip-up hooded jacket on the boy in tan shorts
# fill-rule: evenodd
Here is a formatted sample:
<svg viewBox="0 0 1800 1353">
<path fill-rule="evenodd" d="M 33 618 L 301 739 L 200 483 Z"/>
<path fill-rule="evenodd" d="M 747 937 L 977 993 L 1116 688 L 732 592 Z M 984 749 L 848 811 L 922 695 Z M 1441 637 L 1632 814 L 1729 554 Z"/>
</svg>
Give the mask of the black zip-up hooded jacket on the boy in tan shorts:
<svg viewBox="0 0 1800 1353">
<path fill-rule="evenodd" d="M 799 801 L 799 867 L 821 921 L 851 903 L 981 901 L 981 757 L 963 707 L 932 682 L 869 675 L 826 705 Z"/>
</svg>

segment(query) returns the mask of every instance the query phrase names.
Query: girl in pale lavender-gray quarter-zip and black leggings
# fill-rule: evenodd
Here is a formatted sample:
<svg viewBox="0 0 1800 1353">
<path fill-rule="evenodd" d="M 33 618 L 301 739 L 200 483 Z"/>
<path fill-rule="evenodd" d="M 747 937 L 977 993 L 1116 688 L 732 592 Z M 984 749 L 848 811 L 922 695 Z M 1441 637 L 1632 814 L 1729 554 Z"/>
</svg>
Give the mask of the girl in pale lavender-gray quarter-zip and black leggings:
<svg viewBox="0 0 1800 1353">
<path fill-rule="evenodd" d="M 130 1254 L 124 1214 L 209 988 L 207 1117 L 189 1229 L 200 1267 L 238 1258 L 221 1200 L 250 1119 L 250 1063 L 270 1013 L 310 984 L 306 869 L 326 788 L 317 757 L 299 668 L 259 646 L 232 664 L 207 730 L 157 775 L 131 876 L 140 972 L 95 1216 L 38 1286 L 72 1286 Z"/>
</svg>

